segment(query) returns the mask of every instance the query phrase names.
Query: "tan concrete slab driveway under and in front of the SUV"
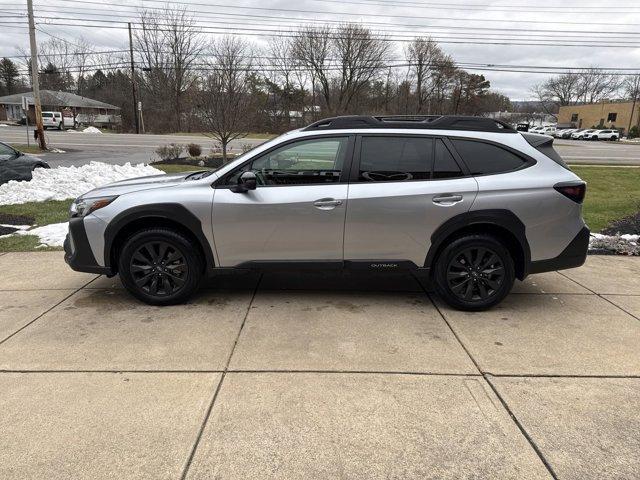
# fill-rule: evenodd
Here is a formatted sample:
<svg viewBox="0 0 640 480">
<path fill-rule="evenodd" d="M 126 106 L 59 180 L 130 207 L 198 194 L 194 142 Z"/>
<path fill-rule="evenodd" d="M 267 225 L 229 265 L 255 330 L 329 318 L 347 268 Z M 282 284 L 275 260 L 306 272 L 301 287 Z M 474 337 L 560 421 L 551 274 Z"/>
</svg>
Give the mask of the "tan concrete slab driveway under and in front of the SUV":
<svg viewBox="0 0 640 480">
<path fill-rule="evenodd" d="M 60 252 L 0 271 L 0 478 L 640 472 L 640 258 L 476 314 L 410 276 L 225 275 L 153 308 Z"/>
</svg>

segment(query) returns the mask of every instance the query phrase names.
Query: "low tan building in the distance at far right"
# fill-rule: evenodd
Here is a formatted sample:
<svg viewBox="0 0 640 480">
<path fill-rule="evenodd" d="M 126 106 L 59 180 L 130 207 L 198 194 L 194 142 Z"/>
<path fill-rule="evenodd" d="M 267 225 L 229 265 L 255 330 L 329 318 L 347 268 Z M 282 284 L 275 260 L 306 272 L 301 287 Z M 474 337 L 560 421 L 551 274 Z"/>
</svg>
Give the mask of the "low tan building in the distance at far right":
<svg viewBox="0 0 640 480">
<path fill-rule="evenodd" d="M 617 128 L 623 133 L 629 125 L 640 125 L 640 102 L 600 102 L 560 107 L 558 125 L 575 128 Z"/>
</svg>

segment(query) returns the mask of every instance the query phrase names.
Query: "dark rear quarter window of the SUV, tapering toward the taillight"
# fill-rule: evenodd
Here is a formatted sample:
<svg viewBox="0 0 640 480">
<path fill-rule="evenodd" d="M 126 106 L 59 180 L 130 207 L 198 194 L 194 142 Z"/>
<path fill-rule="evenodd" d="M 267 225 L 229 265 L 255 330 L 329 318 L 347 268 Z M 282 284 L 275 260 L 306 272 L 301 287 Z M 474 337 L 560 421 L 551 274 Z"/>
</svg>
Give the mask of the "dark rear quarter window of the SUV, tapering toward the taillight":
<svg viewBox="0 0 640 480">
<path fill-rule="evenodd" d="M 475 140 L 451 139 L 472 175 L 491 175 L 517 170 L 527 161 L 497 145 Z"/>
</svg>

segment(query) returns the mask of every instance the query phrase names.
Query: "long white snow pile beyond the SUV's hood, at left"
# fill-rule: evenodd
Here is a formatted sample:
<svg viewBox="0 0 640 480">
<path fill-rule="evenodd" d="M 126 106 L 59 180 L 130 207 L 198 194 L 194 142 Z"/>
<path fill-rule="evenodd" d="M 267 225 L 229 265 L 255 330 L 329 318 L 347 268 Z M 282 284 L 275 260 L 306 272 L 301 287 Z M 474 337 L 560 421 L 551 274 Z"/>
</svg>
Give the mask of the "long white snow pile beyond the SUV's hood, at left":
<svg viewBox="0 0 640 480">
<path fill-rule="evenodd" d="M 81 167 L 37 168 L 29 182 L 12 180 L 0 185 L 0 205 L 66 200 L 108 183 L 163 173 L 142 163 L 111 165 L 91 162 Z"/>
</svg>

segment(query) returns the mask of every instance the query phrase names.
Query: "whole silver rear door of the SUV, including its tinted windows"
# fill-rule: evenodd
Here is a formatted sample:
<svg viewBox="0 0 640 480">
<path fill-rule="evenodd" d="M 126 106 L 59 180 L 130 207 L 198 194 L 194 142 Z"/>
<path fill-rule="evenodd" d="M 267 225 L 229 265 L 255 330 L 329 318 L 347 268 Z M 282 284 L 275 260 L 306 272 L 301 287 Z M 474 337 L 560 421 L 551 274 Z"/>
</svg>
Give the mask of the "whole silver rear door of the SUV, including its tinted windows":
<svg viewBox="0 0 640 480">
<path fill-rule="evenodd" d="M 442 138 L 363 135 L 356 142 L 345 222 L 345 260 L 423 266 L 431 234 L 464 213 L 478 184 Z"/>
</svg>

